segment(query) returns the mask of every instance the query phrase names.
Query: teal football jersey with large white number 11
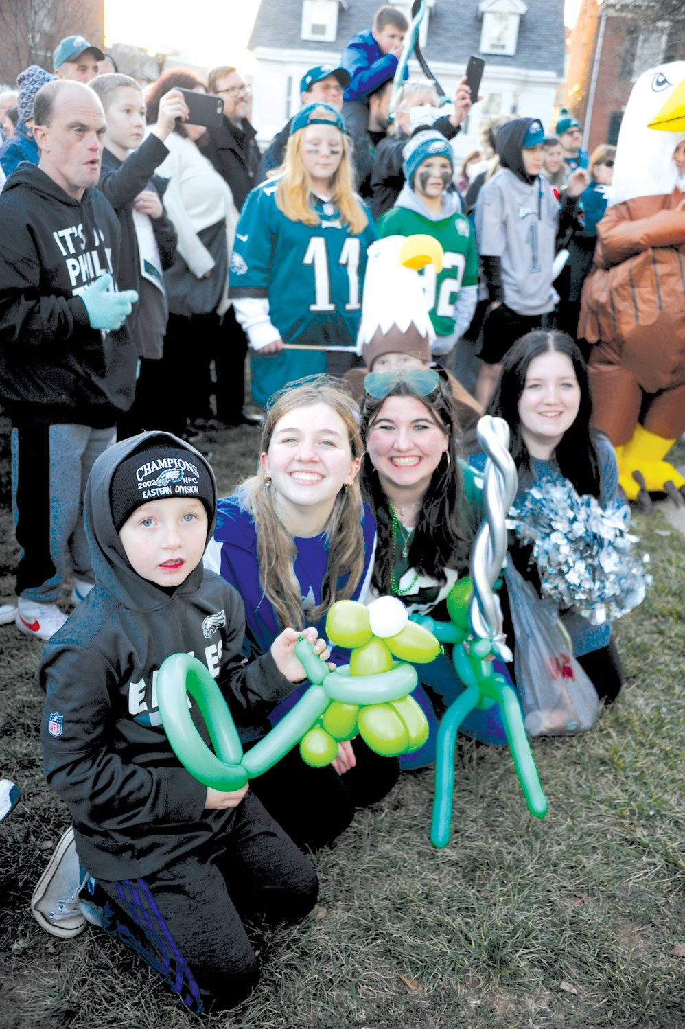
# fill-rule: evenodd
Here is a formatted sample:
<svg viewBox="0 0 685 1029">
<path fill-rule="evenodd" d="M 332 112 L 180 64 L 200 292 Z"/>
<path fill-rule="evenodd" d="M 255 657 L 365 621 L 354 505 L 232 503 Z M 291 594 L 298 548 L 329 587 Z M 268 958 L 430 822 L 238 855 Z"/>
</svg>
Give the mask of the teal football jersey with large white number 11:
<svg viewBox="0 0 685 1029">
<path fill-rule="evenodd" d="M 370 213 L 359 236 L 337 207 L 313 197 L 321 222 L 305 225 L 276 205 L 277 182 L 253 189 L 243 207 L 230 260 L 231 298 L 262 298 L 264 314 L 284 343 L 326 349 L 353 348 L 361 315 L 366 248 L 377 238 Z M 268 328 L 268 324 L 266 324 Z M 248 329 L 256 349 L 269 342 Z M 261 336 L 261 339 L 260 339 Z"/>
</svg>

